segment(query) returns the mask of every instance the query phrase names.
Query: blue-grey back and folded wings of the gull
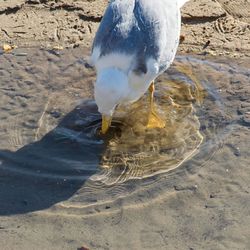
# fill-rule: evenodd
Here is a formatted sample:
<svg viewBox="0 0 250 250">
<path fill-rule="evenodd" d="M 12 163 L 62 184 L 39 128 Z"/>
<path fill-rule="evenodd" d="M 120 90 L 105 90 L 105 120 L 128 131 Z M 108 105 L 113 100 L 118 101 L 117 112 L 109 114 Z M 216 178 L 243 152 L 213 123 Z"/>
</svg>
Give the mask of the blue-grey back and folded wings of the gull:
<svg viewBox="0 0 250 250">
<path fill-rule="evenodd" d="M 107 8 L 93 48 L 100 48 L 100 56 L 113 52 L 135 55 L 137 63 L 134 71 L 146 73 L 147 58 L 157 60 L 159 56 L 156 24 L 150 22 L 139 1 L 134 2 L 126 15 L 121 5 L 111 3 Z"/>
</svg>

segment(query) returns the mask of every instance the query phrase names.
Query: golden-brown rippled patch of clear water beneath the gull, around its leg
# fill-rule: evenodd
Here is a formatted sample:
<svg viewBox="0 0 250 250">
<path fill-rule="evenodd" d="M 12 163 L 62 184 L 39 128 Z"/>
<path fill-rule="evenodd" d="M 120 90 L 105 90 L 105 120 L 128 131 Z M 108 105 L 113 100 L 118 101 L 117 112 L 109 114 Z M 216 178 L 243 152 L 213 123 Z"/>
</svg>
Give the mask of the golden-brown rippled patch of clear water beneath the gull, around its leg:
<svg viewBox="0 0 250 250">
<path fill-rule="evenodd" d="M 156 110 L 166 122 L 165 128 L 147 129 L 147 95 L 130 107 L 118 109 L 115 119 L 123 125 L 103 153 L 102 173 L 92 180 L 110 185 L 146 178 L 177 168 L 198 151 L 203 136 L 195 106 L 202 104 L 206 91 L 197 86 L 197 79 L 190 79 L 194 76 L 189 67 L 178 67 L 189 76 L 180 79 L 181 73 L 176 71 L 172 74 L 175 79 L 162 77 L 157 84 Z"/>
</svg>

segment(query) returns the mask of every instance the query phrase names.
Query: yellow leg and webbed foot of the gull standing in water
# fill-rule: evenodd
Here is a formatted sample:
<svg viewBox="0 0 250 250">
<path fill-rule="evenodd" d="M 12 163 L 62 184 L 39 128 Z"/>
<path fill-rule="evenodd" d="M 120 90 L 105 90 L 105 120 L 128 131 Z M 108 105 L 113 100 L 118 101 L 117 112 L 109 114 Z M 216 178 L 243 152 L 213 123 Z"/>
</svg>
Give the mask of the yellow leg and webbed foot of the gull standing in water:
<svg viewBox="0 0 250 250">
<path fill-rule="evenodd" d="M 164 128 L 165 122 L 159 117 L 159 115 L 155 112 L 154 109 L 154 82 L 151 83 L 148 90 L 150 92 L 150 111 L 148 116 L 147 128 Z"/>
</svg>

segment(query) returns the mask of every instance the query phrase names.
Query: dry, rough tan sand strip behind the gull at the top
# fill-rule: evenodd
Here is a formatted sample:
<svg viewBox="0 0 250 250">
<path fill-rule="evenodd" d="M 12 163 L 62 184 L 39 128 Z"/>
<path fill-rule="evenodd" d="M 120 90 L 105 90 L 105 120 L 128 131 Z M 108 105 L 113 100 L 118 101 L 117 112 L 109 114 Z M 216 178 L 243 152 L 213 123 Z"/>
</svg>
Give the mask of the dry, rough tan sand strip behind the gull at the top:
<svg viewBox="0 0 250 250">
<path fill-rule="evenodd" d="M 0 44 L 90 47 L 107 2 L 3 1 L 0 4 Z M 191 0 L 182 13 L 185 40 L 180 52 L 250 56 L 249 0 Z"/>
</svg>

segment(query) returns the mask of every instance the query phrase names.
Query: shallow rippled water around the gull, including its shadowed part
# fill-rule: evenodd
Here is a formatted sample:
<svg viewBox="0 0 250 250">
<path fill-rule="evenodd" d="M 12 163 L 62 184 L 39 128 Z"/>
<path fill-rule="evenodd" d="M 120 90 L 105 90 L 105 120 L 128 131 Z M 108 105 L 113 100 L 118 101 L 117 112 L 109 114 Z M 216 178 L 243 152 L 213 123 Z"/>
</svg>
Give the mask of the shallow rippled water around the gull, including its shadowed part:
<svg viewBox="0 0 250 250">
<path fill-rule="evenodd" d="M 2 53 L 0 213 L 52 206 L 53 214 L 92 214 L 121 197 L 131 205 L 140 193 L 150 202 L 145 193 L 153 199 L 206 167 L 235 126 L 249 127 L 249 76 L 244 63 L 177 57 L 157 81 L 165 129 L 146 128 L 145 95 L 119 107 L 101 136 L 84 51 Z M 239 149 L 228 147 L 240 160 Z"/>
</svg>

